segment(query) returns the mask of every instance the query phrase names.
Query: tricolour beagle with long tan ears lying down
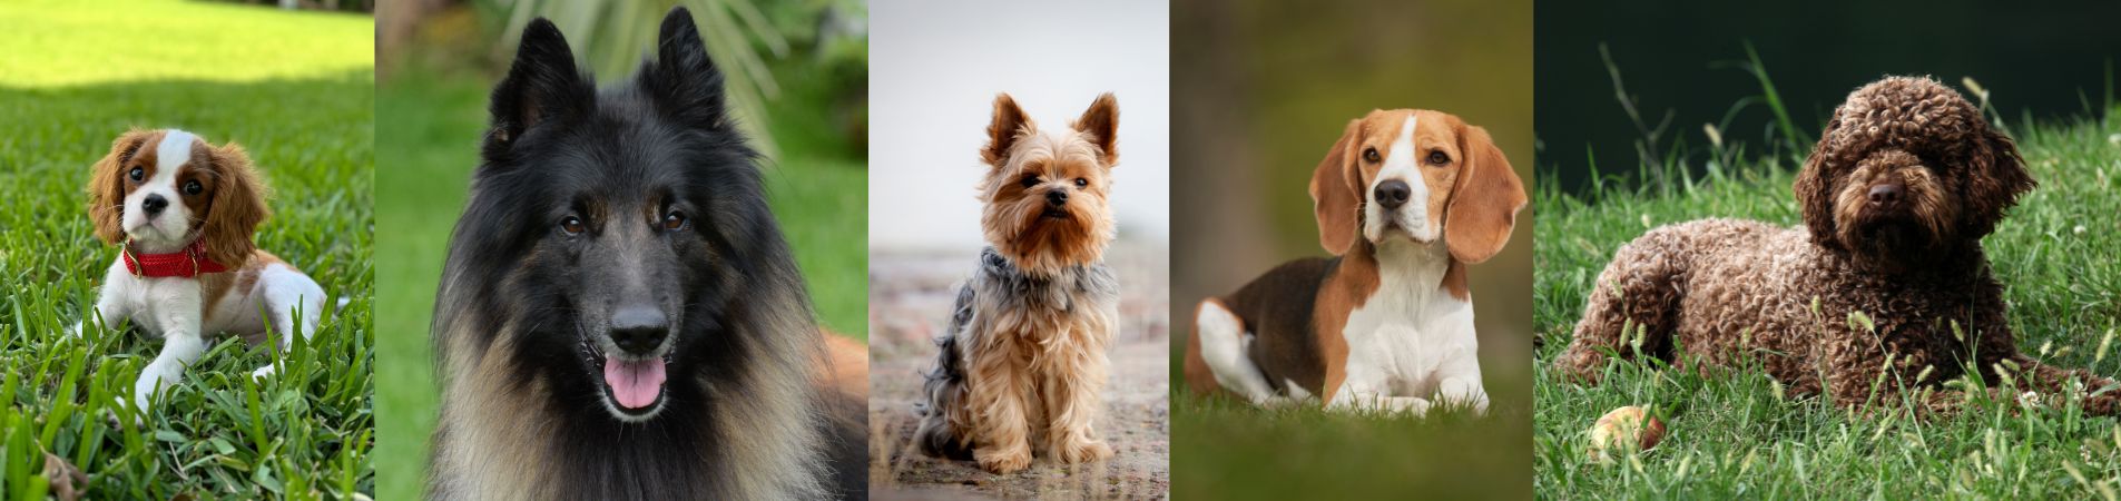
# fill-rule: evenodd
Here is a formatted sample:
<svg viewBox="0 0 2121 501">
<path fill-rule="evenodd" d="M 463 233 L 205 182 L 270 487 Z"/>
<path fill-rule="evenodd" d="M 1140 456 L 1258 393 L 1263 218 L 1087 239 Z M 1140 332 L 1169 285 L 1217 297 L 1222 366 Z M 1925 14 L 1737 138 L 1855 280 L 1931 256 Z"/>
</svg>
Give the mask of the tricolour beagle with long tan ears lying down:
<svg viewBox="0 0 2121 501">
<path fill-rule="evenodd" d="M 1487 412 L 1466 265 L 1502 250 L 1525 187 L 1487 129 L 1372 110 L 1311 174 L 1319 244 L 1194 310 L 1186 380 L 1256 405 Z"/>
</svg>

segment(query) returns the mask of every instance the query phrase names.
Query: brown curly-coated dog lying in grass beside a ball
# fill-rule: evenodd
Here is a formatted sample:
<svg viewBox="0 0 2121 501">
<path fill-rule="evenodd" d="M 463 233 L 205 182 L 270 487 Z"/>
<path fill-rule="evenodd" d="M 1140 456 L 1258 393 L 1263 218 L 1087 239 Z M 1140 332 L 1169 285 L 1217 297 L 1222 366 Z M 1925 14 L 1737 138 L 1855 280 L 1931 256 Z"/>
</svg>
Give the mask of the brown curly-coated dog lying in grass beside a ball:
<svg viewBox="0 0 2121 501">
<path fill-rule="evenodd" d="M 1606 357 L 1635 357 L 1640 335 L 1640 352 L 1667 363 L 1758 357 L 1790 395 L 1826 391 L 1845 408 L 1905 397 L 1956 410 L 1966 395 L 1943 382 L 1968 365 L 2049 397 L 2110 386 L 2013 342 L 1981 238 L 2032 187 L 2011 138 L 1958 91 L 1909 76 L 1864 85 L 1796 176 L 1805 227 L 1703 219 L 1635 238 L 1599 274 L 1555 369 L 1597 382 Z M 2115 403 L 2085 399 L 2091 414 Z"/>
</svg>

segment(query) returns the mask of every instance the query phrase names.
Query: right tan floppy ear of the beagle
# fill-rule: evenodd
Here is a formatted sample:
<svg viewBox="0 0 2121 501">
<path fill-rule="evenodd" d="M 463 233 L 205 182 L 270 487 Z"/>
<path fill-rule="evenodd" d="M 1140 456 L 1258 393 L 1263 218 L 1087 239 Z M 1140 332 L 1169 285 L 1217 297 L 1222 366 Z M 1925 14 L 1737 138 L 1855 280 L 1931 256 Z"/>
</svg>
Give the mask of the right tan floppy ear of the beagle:
<svg viewBox="0 0 2121 501">
<path fill-rule="evenodd" d="M 1480 263 L 1510 242 L 1517 210 L 1525 208 L 1525 183 L 1517 180 L 1517 170 L 1510 170 L 1510 159 L 1487 129 L 1459 127 L 1463 127 L 1459 151 L 1466 153 L 1466 170 L 1451 187 L 1451 206 L 1444 208 L 1444 242 L 1453 259 Z"/>
</svg>

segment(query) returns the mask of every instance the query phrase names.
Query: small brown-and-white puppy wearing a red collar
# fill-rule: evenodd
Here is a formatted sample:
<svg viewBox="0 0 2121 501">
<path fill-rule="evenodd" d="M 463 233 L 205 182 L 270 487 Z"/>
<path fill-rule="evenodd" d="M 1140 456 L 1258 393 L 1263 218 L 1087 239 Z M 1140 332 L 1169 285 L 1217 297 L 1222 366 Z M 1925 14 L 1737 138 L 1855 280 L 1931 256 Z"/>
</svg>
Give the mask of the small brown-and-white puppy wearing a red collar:
<svg viewBox="0 0 2121 501">
<path fill-rule="evenodd" d="M 250 242 L 267 208 L 242 146 L 214 146 L 180 129 L 125 132 L 95 163 L 87 191 L 95 236 L 123 246 L 87 318 L 129 318 L 163 338 L 161 355 L 134 382 L 140 410 L 206 352 L 206 333 L 278 333 L 271 338 L 284 350 L 288 333 L 316 331 L 325 289 Z M 274 365 L 252 374 L 271 376 Z"/>
</svg>

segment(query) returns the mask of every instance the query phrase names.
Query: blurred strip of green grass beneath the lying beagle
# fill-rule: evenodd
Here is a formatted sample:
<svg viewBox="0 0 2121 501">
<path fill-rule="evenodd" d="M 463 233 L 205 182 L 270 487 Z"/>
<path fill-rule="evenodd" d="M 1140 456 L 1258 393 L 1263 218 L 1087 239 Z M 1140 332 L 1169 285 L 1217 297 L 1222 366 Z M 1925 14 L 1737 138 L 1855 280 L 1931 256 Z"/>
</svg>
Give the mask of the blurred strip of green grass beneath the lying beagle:
<svg viewBox="0 0 2121 501">
<path fill-rule="evenodd" d="M 1523 367 L 1523 365 L 1517 365 Z M 1523 399 L 1523 372 L 1514 380 Z M 1523 499 L 1531 495 L 1531 410 L 1495 401 L 1487 416 L 1260 410 L 1194 397 L 1173 376 L 1171 493 L 1186 499 Z M 1330 495 L 1321 495 L 1330 493 Z"/>
</svg>

